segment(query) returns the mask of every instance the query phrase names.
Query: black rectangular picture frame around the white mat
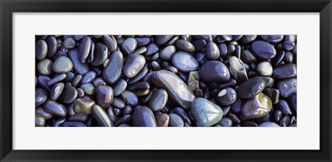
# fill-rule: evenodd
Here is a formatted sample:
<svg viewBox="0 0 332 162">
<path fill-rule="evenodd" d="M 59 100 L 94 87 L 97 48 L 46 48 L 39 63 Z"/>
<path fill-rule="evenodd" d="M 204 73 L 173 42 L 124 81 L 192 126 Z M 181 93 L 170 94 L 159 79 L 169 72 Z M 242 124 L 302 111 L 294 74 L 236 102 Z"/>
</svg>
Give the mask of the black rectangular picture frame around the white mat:
<svg viewBox="0 0 332 162">
<path fill-rule="evenodd" d="M 1 161 L 332 160 L 331 0 L 0 0 L 0 10 Z M 13 12 L 320 12 L 320 150 L 12 150 Z"/>
</svg>

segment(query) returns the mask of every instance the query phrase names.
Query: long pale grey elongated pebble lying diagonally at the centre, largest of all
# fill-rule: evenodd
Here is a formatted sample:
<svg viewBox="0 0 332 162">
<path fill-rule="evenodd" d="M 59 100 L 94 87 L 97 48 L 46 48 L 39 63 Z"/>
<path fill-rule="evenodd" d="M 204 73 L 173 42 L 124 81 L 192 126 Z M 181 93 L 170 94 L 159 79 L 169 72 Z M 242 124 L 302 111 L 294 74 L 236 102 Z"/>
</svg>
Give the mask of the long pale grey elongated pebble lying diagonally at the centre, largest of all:
<svg viewBox="0 0 332 162">
<path fill-rule="evenodd" d="M 160 70 L 153 74 L 152 82 L 157 88 L 166 90 L 169 99 L 182 108 L 190 108 L 190 103 L 195 99 L 188 85 L 173 72 Z"/>
</svg>

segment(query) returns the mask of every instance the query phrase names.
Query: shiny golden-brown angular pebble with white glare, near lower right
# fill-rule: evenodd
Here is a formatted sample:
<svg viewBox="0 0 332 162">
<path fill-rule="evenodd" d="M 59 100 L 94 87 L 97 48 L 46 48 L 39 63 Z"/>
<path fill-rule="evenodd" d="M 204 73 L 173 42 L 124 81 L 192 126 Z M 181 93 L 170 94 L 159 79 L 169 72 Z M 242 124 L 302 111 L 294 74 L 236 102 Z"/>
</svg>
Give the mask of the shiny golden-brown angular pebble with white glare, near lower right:
<svg viewBox="0 0 332 162">
<path fill-rule="evenodd" d="M 244 117 L 260 118 L 264 117 L 272 108 L 272 101 L 270 97 L 263 93 L 257 94 L 242 103 L 241 113 Z"/>
</svg>

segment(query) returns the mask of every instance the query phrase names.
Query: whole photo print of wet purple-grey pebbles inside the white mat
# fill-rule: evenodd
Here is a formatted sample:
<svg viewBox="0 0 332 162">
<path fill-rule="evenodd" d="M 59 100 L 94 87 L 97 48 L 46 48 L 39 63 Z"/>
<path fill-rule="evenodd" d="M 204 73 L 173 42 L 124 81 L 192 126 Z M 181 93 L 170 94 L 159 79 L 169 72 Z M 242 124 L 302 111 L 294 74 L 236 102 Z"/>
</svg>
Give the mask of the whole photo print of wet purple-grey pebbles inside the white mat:
<svg viewBox="0 0 332 162">
<path fill-rule="evenodd" d="M 36 127 L 296 127 L 296 35 L 37 35 Z"/>
</svg>

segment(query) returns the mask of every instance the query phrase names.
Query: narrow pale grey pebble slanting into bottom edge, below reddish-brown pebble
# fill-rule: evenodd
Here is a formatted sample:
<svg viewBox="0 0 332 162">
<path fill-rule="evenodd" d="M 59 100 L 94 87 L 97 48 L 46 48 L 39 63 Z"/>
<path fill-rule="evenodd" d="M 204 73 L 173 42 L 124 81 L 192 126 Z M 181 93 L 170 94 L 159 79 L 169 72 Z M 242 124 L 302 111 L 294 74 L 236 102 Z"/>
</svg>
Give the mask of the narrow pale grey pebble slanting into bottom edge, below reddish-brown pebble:
<svg viewBox="0 0 332 162">
<path fill-rule="evenodd" d="M 93 105 L 92 113 L 95 116 L 95 120 L 101 127 L 113 127 L 114 124 L 107 115 L 107 113 L 99 105 Z"/>
</svg>

